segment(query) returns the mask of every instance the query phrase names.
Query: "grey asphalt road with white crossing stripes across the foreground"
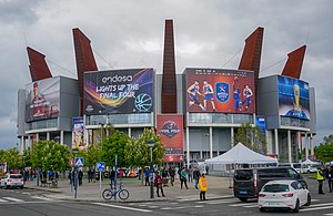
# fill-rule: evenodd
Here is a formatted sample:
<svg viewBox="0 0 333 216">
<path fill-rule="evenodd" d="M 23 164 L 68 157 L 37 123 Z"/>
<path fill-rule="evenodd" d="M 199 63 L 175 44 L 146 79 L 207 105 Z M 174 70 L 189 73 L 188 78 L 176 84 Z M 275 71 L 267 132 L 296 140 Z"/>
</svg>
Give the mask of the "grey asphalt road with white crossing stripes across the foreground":
<svg viewBox="0 0 333 216">
<path fill-rule="evenodd" d="M 314 182 L 315 183 L 315 182 Z M 312 205 L 299 215 L 333 216 L 333 194 L 317 195 L 311 184 Z M 209 198 L 209 193 L 208 193 Z M 198 198 L 149 203 L 79 203 L 53 200 L 29 189 L 0 189 L 0 215 L 10 216 L 89 216 L 89 215 L 285 215 L 285 212 L 260 213 L 255 200 L 241 203 L 233 196 L 200 202 Z"/>
</svg>

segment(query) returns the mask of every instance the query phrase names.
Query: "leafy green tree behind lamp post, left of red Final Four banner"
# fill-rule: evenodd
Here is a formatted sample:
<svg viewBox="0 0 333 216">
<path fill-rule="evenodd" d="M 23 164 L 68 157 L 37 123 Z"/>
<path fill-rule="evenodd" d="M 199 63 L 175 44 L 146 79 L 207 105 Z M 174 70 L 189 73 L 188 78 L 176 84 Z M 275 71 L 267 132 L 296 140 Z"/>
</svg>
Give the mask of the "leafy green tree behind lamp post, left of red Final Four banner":
<svg viewBox="0 0 333 216">
<path fill-rule="evenodd" d="M 130 138 L 125 145 L 125 160 L 129 165 L 141 167 L 148 166 L 151 161 L 150 147 L 148 141 L 153 140 L 154 147 L 152 148 L 153 164 L 161 164 L 165 153 L 160 136 L 158 136 L 153 128 L 144 128 L 143 133 L 138 140 Z"/>
</svg>

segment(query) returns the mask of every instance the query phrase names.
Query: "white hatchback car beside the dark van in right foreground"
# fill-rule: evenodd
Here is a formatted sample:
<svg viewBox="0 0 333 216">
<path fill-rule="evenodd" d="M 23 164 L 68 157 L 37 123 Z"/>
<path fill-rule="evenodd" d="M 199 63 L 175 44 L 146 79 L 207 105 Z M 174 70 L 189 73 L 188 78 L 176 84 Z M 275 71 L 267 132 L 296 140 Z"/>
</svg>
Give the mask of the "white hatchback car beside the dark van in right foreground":
<svg viewBox="0 0 333 216">
<path fill-rule="evenodd" d="M 311 205 L 311 195 L 297 181 L 271 181 L 259 193 L 258 207 L 260 212 L 291 209 L 297 213 L 304 205 Z"/>
</svg>

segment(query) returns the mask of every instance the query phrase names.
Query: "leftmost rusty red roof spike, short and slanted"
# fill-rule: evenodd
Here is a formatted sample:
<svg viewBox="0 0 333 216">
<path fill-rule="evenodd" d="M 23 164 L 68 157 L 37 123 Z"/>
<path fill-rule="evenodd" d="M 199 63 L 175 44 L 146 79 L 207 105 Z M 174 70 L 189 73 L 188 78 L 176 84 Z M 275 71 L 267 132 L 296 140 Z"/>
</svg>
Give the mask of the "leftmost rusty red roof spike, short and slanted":
<svg viewBox="0 0 333 216">
<path fill-rule="evenodd" d="M 27 52 L 30 62 L 29 70 L 32 82 L 52 78 L 50 69 L 46 62 L 46 55 L 30 47 L 27 47 Z"/>
</svg>

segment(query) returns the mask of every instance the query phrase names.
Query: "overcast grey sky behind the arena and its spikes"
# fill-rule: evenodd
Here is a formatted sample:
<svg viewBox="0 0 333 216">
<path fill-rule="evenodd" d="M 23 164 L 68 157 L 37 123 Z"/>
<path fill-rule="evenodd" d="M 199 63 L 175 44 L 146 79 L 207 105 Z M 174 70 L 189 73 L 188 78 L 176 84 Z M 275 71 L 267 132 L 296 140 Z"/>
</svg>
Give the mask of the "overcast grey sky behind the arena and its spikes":
<svg viewBox="0 0 333 216">
<path fill-rule="evenodd" d="M 161 73 L 165 19 L 174 21 L 178 73 L 223 66 L 258 27 L 264 28 L 260 76 L 281 74 L 286 54 L 306 44 L 301 79 L 316 91 L 317 144 L 333 134 L 332 11 L 331 0 L 0 0 L 0 148 L 19 142 L 17 93 L 31 82 L 27 45 L 47 55 L 54 76 L 77 78 L 72 29 L 80 28 L 99 69 Z M 224 68 L 236 69 L 240 56 Z"/>
</svg>

